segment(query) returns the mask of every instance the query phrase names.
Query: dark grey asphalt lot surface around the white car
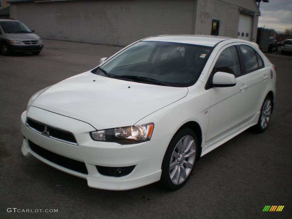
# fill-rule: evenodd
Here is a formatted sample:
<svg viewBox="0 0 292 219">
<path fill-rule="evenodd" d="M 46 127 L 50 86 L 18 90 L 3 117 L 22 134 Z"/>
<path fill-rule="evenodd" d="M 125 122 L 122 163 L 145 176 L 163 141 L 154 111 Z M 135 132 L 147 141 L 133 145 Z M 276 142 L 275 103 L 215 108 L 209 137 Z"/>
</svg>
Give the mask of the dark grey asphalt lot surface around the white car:
<svg viewBox="0 0 292 219">
<path fill-rule="evenodd" d="M 20 115 L 44 87 L 98 65 L 122 47 L 44 40 L 40 55 L 0 55 L 0 218 L 291 218 L 292 56 L 267 53 L 277 66 L 274 113 L 265 133 L 247 130 L 202 157 L 180 190 L 157 184 L 128 191 L 89 188 L 20 147 Z M 284 205 L 281 212 L 263 212 Z M 7 208 L 58 209 L 9 213 Z"/>
</svg>

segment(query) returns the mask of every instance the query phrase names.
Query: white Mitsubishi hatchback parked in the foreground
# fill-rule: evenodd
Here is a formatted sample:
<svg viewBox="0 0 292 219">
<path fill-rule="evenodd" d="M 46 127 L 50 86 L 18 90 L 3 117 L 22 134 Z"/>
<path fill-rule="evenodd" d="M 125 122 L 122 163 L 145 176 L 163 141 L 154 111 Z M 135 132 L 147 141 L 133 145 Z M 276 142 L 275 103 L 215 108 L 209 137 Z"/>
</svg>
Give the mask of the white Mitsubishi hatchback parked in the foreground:
<svg viewBox="0 0 292 219">
<path fill-rule="evenodd" d="M 160 180 L 176 190 L 201 156 L 247 128 L 266 130 L 275 84 L 276 67 L 254 43 L 152 36 L 32 95 L 21 150 L 89 187 Z"/>
</svg>

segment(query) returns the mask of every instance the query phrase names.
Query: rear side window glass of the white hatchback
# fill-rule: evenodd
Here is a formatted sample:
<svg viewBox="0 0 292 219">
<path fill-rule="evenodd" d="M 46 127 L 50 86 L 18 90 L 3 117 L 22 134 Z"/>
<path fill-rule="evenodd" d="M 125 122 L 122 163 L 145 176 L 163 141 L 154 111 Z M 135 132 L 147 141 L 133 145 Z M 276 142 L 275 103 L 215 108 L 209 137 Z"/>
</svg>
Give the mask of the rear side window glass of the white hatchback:
<svg viewBox="0 0 292 219">
<path fill-rule="evenodd" d="M 263 60 L 253 48 L 246 45 L 240 45 L 240 49 L 242 52 L 246 72 L 263 67 Z"/>
</svg>

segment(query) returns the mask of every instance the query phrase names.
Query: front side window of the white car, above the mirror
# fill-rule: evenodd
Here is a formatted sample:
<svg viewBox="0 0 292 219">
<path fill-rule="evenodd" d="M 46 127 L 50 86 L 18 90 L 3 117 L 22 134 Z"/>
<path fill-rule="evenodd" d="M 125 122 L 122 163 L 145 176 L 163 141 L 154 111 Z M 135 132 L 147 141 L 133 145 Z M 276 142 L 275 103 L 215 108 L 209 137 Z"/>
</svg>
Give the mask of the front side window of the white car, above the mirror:
<svg viewBox="0 0 292 219">
<path fill-rule="evenodd" d="M 239 58 L 235 46 L 230 46 L 223 50 L 219 55 L 212 72 L 227 72 L 234 74 L 235 77 L 241 74 Z"/>
</svg>

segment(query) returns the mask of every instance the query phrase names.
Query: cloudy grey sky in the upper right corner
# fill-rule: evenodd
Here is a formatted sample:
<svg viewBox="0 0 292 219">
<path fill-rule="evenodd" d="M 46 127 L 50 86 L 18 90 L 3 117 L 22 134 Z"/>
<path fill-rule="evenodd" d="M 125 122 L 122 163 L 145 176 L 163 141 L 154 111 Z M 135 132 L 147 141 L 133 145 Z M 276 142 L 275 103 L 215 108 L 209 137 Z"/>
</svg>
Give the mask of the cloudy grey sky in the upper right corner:
<svg viewBox="0 0 292 219">
<path fill-rule="evenodd" d="M 261 2 L 258 27 L 273 28 L 284 31 L 292 28 L 292 0 L 270 0 L 269 3 Z"/>
</svg>

